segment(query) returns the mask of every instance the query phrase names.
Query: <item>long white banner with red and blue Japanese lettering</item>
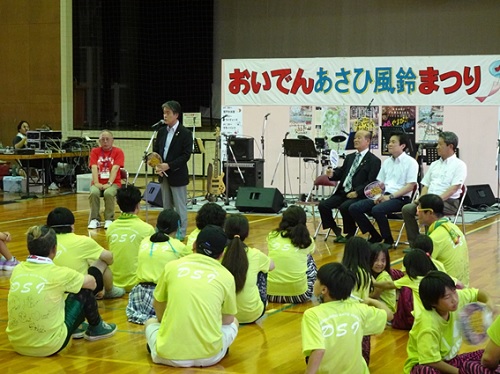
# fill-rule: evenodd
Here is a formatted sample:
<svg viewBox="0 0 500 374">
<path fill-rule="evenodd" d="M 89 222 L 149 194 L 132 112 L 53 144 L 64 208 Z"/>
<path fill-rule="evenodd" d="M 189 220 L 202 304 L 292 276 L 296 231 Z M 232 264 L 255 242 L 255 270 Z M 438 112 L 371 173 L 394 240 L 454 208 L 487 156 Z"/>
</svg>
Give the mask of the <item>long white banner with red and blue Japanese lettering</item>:
<svg viewBox="0 0 500 374">
<path fill-rule="evenodd" d="M 500 105 L 500 55 L 223 60 L 223 105 Z"/>
</svg>

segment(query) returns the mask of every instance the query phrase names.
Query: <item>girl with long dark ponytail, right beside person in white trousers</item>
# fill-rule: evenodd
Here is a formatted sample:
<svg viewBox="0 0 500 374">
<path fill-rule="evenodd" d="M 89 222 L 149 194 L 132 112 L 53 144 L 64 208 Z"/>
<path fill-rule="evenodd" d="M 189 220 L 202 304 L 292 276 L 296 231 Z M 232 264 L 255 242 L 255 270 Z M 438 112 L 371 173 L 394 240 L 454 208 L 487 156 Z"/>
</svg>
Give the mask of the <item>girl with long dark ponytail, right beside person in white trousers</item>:
<svg viewBox="0 0 500 374">
<path fill-rule="evenodd" d="M 274 269 L 274 262 L 256 248 L 248 247 L 248 219 L 242 214 L 232 214 L 226 219 L 224 231 L 229 239 L 222 265 L 234 276 L 236 284 L 236 318 L 240 323 L 252 323 L 266 311 L 267 273 Z"/>
</svg>

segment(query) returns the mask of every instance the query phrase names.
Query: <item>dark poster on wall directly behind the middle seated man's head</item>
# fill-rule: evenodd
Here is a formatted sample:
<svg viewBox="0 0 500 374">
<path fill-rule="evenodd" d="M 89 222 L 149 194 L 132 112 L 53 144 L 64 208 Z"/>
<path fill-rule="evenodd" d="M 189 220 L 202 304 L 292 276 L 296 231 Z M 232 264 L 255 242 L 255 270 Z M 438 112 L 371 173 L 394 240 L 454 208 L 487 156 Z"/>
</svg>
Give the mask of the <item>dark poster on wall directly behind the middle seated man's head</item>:
<svg viewBox="0 0 500 374">
<path fill-rule="evenodd" d="M 391 134 L 404 132 L 410 138 L 409 152 L 415 156 L 417 148 L 415 146 L 415 112 L 414 106 L 383 106 L 382 107 L 382 154 L 390 155 L 387 151 L 387 144 Z"/>
</svg>

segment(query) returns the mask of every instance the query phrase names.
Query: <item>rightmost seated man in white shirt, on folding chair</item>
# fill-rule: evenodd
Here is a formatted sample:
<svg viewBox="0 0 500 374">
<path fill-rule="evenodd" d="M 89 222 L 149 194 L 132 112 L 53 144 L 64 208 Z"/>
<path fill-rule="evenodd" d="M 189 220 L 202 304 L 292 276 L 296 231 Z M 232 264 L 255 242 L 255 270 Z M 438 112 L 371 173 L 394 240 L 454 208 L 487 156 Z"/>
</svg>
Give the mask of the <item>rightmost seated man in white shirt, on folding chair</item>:
<svg viewBox="0 0 500 374">
<path fill-rule="evenodd" d="M 457 158 L 455 150 L 458 146 L 458 137 L 451 131 L 439 134 L 437 153 L 439 160 L 434 161 L 422 179 L 420 196 L 426 194 L 439 195 L 444 202 L 444 214 L 455 214 L 460 204 L 460 190 L 467 177 L 467 165 Z M 418 235 L 417 202 L 403 207 L 406 235 L 410 246 Z"/>
</svg>

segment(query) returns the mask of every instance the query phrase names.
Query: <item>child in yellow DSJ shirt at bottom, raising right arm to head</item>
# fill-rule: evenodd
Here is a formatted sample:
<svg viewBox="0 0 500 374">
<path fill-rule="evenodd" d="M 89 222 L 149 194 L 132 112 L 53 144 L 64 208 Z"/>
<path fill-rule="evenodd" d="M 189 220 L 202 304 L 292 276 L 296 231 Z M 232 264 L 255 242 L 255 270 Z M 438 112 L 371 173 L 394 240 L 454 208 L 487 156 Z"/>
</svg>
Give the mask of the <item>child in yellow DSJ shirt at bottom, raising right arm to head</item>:
<svg viewBox="0 0 500 374">
<path fill-rule="evenodd" d="M 392 312 L 378 300 L 351 298 L 355 285 L 355 274 L 340 263 L 318 270 L 314 295 L 321 304 L 302 317 L 307 373 L 369 373 L 361 341 L 364 335 L 382 333 Z"/>
</svg>

